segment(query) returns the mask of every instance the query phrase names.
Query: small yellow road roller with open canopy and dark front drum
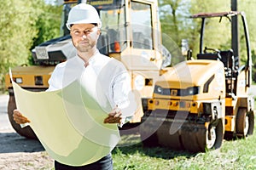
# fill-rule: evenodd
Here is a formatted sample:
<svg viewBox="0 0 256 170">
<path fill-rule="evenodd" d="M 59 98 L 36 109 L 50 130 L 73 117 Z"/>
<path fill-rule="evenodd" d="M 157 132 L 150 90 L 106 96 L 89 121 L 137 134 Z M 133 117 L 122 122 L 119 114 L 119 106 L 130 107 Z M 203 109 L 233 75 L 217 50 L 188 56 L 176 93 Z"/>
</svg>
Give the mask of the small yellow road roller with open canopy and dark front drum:
<svg viewBox="0 0 256 170">
<path fill-rule="evenodd" d="M 207 48 L 204 43 L 211 41 L 204 41 L 204 32 L 209 22 L 233 22 L 234 17 L 241 19 L 242 36 L 230 26 L 231 48 Z M 200 152 L 219 149 L 223 139 L 253 134 L 254 100 L 249 95 L 252 57 L 246 15 L 231 11 L 195 14 L 191 18 L 201 19 L 199 54 L 193 59 L 189 53 L 188 60 L 174 65 L 155 82 L 153 98 L 144 105 L 147 109 L 140 126 L 144 145 Z M 241 37 L 247 56 L 240 56 L 239 48 L 234 48 L 239 47 L 236 40 Z M 245 63 L 241 64 L 241 59 Z"/>
</svg>

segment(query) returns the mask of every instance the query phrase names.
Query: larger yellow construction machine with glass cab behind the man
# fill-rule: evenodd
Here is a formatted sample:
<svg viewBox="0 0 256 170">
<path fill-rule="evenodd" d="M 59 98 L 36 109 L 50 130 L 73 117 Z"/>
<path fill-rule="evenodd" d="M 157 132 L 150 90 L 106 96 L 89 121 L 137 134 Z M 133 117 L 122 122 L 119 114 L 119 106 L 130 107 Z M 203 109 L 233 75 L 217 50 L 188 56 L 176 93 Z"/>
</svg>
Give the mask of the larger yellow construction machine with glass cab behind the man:
<svg viewBox="0 0 256 170">
<path fill-rule="evenodd" d="M 44 91 L 55 68 L 76 54 L 69 31 L 67 16 L 77 0 L 63 2 L 62 30 L 64 35 L 44 42 L 32 49 L 36 65 L 12 68 L 12 75 L 20 87 L 31 91 Z M 139 99 L 147 101 L 154 91 L 154 82 L 161 70 L 170 65 L 171 54 L 162 46 L 160 20 L 157 14 L 157 0 L 87 0 L 94 6 L 102 20 L 101 36 L 97 48 L 102 54 L 121 61 L 131 75 L 131 87 Z M 16 108 L 15 95 L 9 75 L 6 77 L 9 89 L 9 121 L 17 133 L 27 138 L 36 138 L 31 127 L 20 128 L 13 120 Z M 138 101 L 137 112 L 131 122 L 141 122 L 143 108 Z M 35 114 L 36 111 L 35 111 Z"/>
</svg>

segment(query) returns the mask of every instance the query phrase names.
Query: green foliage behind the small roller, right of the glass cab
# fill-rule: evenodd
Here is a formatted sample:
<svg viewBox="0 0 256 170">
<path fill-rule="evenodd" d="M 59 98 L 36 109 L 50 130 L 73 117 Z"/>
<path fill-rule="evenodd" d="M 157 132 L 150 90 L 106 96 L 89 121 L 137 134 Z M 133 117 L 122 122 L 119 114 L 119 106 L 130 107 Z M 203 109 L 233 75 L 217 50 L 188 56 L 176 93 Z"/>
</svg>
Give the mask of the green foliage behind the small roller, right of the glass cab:
<svg viewBox="0 0 256 170">
<path fill-rule="evenodd" d="M 249 28 L 250 42 L 252 50 L 256 50 L 256 35 L 253 34 L 256 29 L 255 20 L 255 2 L 256 0 L 237 0 L 237 8 L 239 11 L 244 11 L 247 14 L 247 24 Z M 188 40 L 189 49 L 193 51 L 193 57 L 196 58 L 196 54 L 199 52 L 199 35 L 201 20 L 189 19 L 191 14 L 198 14 L 202 12 L 224 12 L 230 11 L 229 1 L 204 1 L 204 0 L 159 0 L 160 4 L 160 21 L 162 32 L 166 35 L 163 37 L 163 44 L 166 46 L 166 37 L 169 37 L 176 42 L 176 47 L 181 48 L 181 42 L 183 39 Z M 218 26 L 218 22 L 207 22 L 207 31 L 205 32 L 205 46 L 209 48 L 218 49 L 230 49 L 231 48 L 231 33 L 230 26 L 226 25 L 227 20 L 222 20 L 222 26 Z M 240 25 L 240 32 L 242 32 L 242 25 Z M 240 35 L 240 56 L 241 65 L 246 60 L 246 46 L 244 35 Z M 168 44 L 168 43 L 167 43 Z M 204 47 L 205 47 L 204 46 Z M 169 47 L 170 46 L 166 46 Z M 175 65 L 177 61 L 174 59 L 177 55 L 172 54 L 172 65 Z M 179 59 L 178 59 L 179 60 Z M 253 74 L 254 70 L 253 70 Z M 253 78 L 256 81 L 255 78 Z"/>
</svg>

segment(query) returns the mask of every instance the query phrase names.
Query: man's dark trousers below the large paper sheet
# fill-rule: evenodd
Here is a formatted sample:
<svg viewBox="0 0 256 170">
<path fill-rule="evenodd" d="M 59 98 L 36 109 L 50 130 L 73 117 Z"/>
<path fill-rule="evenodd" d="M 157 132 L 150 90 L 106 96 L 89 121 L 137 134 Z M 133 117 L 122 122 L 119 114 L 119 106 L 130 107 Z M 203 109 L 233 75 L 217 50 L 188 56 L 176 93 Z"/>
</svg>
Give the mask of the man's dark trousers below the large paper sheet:
<svg viewBox="0 0 256 170">
<path fill-rule="evenodd" d="M 55 170 L 113 170 L 113 161 L 111 154 L 102 157 L 99 161 L 81 167 L 72 167 L 55 161 Z"/>
</svg>

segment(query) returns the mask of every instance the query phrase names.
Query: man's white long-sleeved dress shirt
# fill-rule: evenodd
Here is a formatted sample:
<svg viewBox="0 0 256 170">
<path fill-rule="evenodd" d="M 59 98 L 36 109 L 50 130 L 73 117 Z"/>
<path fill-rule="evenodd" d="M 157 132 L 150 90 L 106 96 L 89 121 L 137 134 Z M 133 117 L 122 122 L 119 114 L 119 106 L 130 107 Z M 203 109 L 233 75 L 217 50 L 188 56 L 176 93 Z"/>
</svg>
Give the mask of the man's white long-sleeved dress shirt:
<svg viewBox="0 0 256 170">
<path fill-rule="evenodd" d="M 86 68 L 84 60 L 78 55 L 67 59 L 56 65 L 49 79 L 47 91 L 65 88 L 76 80 L 81 82 L 104 111 L 109 113 L 118 106 L 122 116 L 134 114 L 136 104 L 131 101 L 131 77 L 125 66 L 117 59 L 109 58 L 97 51 L 90 57 Z"/>
</svg>

